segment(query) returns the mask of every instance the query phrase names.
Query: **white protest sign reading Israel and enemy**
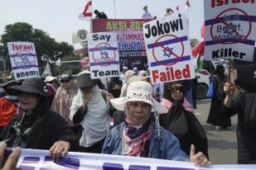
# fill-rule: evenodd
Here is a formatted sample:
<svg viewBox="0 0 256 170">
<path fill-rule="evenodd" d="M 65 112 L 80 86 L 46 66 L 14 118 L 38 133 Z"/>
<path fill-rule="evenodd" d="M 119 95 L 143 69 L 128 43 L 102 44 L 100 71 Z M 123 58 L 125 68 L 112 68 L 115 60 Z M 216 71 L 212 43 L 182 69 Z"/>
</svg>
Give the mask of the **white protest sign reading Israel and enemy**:
<svg viewBox="0 0 256 170">
<path fill-rule="evenodd" d="M 40 77 L 35 45 L 31 42 L 7 42 L 14 78 Z"/>
</svg>

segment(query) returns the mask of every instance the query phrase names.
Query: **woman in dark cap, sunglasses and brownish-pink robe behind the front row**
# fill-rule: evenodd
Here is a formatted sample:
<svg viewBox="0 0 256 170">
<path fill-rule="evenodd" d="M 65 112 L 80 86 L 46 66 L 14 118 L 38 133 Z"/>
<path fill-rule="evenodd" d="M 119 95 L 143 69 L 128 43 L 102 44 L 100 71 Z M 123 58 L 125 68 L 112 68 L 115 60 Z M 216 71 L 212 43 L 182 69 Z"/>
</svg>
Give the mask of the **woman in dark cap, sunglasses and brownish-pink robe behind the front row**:
<svg viewBox="0 0 256 170">
<path fill-rule="evenodd" d="M 68 125 L 73 125 L 70 120 L 70 106 L 73 97 L 75 97 L 76 89 L 73 83 L 73 77 L 70 74 L 62 74 L 60 76 L 60 87 L 56 90 L 56 95 L 51 104 L 51 110 L 60 113 Z"/>
</svg>

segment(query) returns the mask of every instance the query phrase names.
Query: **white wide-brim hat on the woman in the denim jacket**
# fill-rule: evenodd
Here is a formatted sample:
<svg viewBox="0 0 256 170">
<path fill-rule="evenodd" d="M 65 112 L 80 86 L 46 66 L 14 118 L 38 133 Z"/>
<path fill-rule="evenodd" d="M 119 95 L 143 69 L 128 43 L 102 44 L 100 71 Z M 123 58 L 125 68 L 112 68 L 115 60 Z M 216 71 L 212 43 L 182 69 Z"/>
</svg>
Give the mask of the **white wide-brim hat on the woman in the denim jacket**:
<svg viewBox="0 0 256 170">
<path fill-rule="evenodd" d="M 157 113 L 167 112 L 166 107 L 152 97 L 152 85 L 144 81 L 130 83 L 126 97 L 110 99 L 110 102 L 118 111 L 124 111 L 126 102 L 147 102 L 152 106 L 152 111 L 157 111 Z"/>
</svg>

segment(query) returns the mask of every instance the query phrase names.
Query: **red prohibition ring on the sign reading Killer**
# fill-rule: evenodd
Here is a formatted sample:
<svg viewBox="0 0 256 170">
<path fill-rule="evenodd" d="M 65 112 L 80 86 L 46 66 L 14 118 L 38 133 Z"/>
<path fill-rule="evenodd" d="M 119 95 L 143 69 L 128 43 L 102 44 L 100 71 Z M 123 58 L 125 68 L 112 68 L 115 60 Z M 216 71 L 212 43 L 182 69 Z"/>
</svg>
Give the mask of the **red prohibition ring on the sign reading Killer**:
<svg viewBox="0 0 256 170">
<path fill-rule="evenodd" d="M 219 14 L 217 17 L 215 17 L 215 21 L 216 21 L 216 20 L 219 20 L 220 15 L 222 15 L 223 13 L 228 12 L 228 11 L 230 11 L 230 10 L 237 10 L 237 11 L 239 11 L 239 12 L 242 12 L 242 13 L 244 13 L 244 15 L 247 17 L 247 19 L 248 19 L 248 21 L 249 21 L 249 31 L 248 31 L 248 34 L 245 36 L 245 38 L 247 39 L 247 37 L 249 36 L 249 34 L 250 34 L 251 31 L 252 31 L 252 21 L 251 21 L 249 15 L 248 15 L 248 13 L 244 12 L 243 10 L 241 10 L 241 9 L 239 9 L 239 8 L 229 8 L 229 9 L 223 11 L 223 12 L 220 12 L 220 14 Z M 224 22 L 224 21 L 222 21 L 222 22 Z M 225 23 L 224 23 L 224 24 L 225 24 Z M 215 40 L 215 38 L 214 38 L 214 36 L 213 36 L 213 34 L 212 34 L 212 29 L 213 29 L 212 27 L 213 27 L 213 24 L 210 26 L 210 36 L 211 36 L 212 40 Z M 239 43 L 241 40 L 234 40 L 234 41 L 231 41 L 231 42 L 221 42 L 222 40 L 219 40 L 219 41 L 220 41 L 220 44 L 236 44 L 236 43 Z"/>
</svg>

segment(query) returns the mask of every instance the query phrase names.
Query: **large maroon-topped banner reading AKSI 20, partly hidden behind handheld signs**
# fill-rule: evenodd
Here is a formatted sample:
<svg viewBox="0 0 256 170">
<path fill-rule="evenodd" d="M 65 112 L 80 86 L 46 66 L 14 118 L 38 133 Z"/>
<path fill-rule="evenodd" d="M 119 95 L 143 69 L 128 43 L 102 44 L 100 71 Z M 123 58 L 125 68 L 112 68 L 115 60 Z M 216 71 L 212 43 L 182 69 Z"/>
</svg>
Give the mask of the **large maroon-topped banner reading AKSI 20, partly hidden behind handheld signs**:
<svg viewBox="0 0 256 170">
<path fill-rule="evenodd" d="M 118 34 L 120 68 L 137 67 L 147 70 L 147 54 L 143 38 L 143 24 L 146 19 L 94 19 L 93 32 L 115 32 Z"/>
</svg>

